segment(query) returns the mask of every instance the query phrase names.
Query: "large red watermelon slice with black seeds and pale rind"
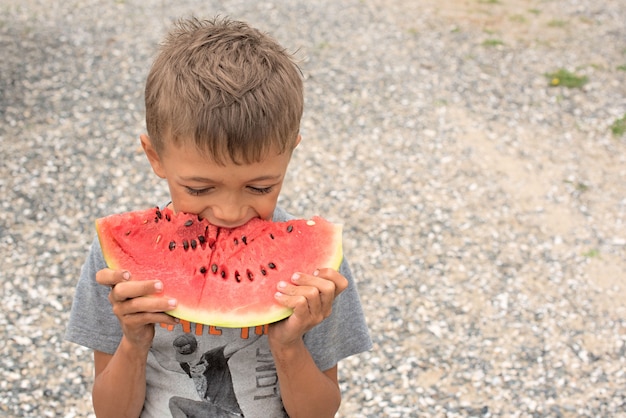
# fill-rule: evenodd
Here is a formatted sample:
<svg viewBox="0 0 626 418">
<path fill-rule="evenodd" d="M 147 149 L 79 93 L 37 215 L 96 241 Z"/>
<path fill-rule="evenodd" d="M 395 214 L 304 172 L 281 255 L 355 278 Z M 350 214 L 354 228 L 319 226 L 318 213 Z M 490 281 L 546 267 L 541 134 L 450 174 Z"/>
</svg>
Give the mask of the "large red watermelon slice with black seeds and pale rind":
<svg viewBox="0 0 626 418">
<path fill-rule="evenodd" d="M 220 228 L 170 209 L 110 215 L 96 220 L 104 259 L 132 280 L 160 280 L 168 313 L 190 322 L 243 328 L 279 321 L 291 309 L 274 298 L 279 281 L 295 272 L 338 269 L 341 226 L 320 217 L 272 222 L 252 219 Z"/>
</svg>

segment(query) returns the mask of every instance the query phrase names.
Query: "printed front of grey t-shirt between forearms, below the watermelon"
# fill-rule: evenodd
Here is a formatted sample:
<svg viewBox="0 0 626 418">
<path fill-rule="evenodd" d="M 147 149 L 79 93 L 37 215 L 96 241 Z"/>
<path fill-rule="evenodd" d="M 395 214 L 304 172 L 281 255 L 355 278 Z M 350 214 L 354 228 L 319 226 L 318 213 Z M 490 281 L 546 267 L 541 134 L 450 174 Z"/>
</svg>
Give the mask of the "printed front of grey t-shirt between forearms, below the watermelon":
<svg viewBox="0 0 626 418">
<path fill-rule="evenodd" d="M 286 416 L 266 333 L 267 326 L 228 329 L 186 321 L 157 326 L 151 353 L 165 373 L 158 378 L 176 373 L 182 386 L 168 395 L 169 414 L 232 418 L 254 411 L 248 416 Z"/>
</svg>

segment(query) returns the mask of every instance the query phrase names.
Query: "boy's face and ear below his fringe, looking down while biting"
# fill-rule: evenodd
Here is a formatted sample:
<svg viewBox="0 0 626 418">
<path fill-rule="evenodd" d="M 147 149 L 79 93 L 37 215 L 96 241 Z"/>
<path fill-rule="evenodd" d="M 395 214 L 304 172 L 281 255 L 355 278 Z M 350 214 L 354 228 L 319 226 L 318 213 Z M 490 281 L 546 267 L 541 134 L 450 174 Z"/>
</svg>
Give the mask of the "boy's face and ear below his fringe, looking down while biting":
<svg viewBox="0 0 626 418">
<path fill-rule="evenodd" d="M 271 219 L 291 159 L 285 152 L 254 164 L 221 166 L 193 145 L 166 143 L 158 155 L 147 136 L 141 143 L 154 172 L 167 180 L 175 211 L 227 228 L 252 218 Z"/>
</svg>

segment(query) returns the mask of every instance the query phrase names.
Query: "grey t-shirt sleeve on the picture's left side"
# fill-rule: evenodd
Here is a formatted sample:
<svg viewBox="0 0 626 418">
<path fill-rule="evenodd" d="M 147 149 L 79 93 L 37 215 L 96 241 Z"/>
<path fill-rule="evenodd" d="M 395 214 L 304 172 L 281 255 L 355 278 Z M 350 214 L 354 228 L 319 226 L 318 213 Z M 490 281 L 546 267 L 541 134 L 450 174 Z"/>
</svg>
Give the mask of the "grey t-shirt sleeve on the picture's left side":
<svg viewBox="0 0 626 418">
<path fill-rule="evenodd" d="M 96 282 L 96 273 L 106 267 L 95 238 L 76 285 L 65 339 L 113 354 L 122 339 L 122 330 L 109 303 L 110 289 Z"/>
</svg>

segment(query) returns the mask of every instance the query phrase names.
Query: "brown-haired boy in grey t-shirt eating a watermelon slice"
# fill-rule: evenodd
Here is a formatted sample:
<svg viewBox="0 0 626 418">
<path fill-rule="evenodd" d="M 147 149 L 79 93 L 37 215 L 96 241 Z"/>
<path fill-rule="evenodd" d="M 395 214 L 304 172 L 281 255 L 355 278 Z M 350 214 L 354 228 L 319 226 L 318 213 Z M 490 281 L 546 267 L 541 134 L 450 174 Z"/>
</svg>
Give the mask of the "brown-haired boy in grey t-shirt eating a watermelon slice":
<svg viewBox="0 0 626 418">
<path fill-rule="evenodd" d="M 227 19 L 179 22 L 148 76 L 141 135 L 169 206 L 223 227 L 288 219 L 276 203 L 302 107 L 299 69 L 272 38 Z M 283 321 L 197 326 L 163 313 L 176 300 L 141 297 L 162 283 L 107 269 L 94 240 L 66 337 L 94 350 L 96 414 L 334 416 L 337 363 L 371 341 L 347 264 L 324 267 L 277 286 L 294 309 Z"/>
</svg>

